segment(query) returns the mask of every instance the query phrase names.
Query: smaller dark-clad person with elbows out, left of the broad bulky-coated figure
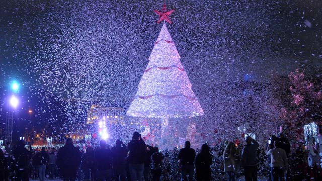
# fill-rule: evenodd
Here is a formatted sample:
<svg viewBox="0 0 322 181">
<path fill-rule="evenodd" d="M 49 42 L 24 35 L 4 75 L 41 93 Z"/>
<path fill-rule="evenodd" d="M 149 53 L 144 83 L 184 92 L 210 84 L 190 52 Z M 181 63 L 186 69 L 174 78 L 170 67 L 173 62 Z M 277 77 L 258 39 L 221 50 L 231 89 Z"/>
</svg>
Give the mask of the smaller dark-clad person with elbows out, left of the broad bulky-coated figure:
<svg viewBox="0 0 322 181">
<path fill-rule="evenodd" d="M 48 153 L 45 151 L 45 147 L 41 148 L 41 151 L 38 152 L 34 157 L 33 157 L 33 161 L 34 161 L 34 165 L 37 167 L 38 169 L 38 173 L 39 173 L 39 181 L 44 181 L 45 180 L 45 175 L 46 175 L 46 165 L 48 163 L 49 160 L 49 155 Z"/>
</svg>

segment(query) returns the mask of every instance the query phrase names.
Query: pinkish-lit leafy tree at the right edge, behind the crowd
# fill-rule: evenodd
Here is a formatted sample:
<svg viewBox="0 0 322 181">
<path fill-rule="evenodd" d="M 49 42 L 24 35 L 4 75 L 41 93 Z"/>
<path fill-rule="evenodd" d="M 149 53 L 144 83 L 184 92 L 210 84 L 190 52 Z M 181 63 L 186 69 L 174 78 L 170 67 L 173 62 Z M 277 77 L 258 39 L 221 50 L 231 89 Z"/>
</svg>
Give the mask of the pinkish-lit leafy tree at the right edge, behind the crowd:
<svg viewBox="0 0 322 181">
<path fill-rule="evenodd" d="M 314 86 L 312 81 L 306 80 L 304 73 L 299 69 L 291 72 L 288 77 L 291 95 L 289 104 L 282 108 L 281 118 L 285 120 L 285 127 L 292 134 L 291 137 L 302 139 L 304 125 L 311 122 L 322 123 L 321 87 Z"/>
</svg>

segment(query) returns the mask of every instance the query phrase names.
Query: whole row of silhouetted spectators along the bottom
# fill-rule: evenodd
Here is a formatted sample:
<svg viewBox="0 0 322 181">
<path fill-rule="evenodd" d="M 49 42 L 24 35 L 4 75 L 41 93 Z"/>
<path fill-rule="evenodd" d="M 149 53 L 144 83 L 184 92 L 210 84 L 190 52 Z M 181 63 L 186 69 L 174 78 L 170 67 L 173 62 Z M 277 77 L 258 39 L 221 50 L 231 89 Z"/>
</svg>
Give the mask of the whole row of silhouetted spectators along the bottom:
<svg viewBox="0 0 322 181">
<path fill-rule="evenodd" d="M 257 180 L 259 172 L 268 175 L 267 179 L 272 181 L 321 178 L 317 168 L 305 166 L 305 150 L 300 147 L 295 151 L 296 156 L 293 155 L 296 169 L 288 169 L 290 144 L 283 135 L 273 136 L 266 151 L 260 151 L 258 142 L 250 136 L 246 137 L 243 148 L 233 142 L 213 148 L 206 143 L 196 153 L 186 141 L 180 150 L 162 151 L 146 145 L 138 132 L 133 133 L 127 145 L 118 139 L 111 148 L 101 140 L 99 147 L 88 147 L 85 153 L 73 145 L 71 138 L 66 139 L 57 154 L 56 151 L 48 154 L 45 148 L 35 152 L 31 145 L 28 150 L 24 141 L 7 150 L 4 154 L 0 149 L 0 181 L 206 181 L 237 180 L 240 177 L 252 181 Z M 265 166 L 265 163 L 268 164 Z"/>
</svg>

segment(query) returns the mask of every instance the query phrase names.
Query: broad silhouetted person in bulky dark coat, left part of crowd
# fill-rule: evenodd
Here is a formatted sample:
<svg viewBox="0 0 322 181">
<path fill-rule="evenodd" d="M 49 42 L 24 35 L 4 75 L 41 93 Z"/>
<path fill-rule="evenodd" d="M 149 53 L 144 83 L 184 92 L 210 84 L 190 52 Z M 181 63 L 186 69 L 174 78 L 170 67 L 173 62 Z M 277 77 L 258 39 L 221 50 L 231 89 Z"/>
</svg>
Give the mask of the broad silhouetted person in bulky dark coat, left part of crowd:
<svg viewBox="0 0 322 181">
<path fill-rule="evenodd" d="M 71 138 L 67 138 L 65 145 L 57 152 L 57 165 L 64 181 L 74 181 L 79 165 L 81 164 L 81 152 L 74 147 Z"/>
</svg>

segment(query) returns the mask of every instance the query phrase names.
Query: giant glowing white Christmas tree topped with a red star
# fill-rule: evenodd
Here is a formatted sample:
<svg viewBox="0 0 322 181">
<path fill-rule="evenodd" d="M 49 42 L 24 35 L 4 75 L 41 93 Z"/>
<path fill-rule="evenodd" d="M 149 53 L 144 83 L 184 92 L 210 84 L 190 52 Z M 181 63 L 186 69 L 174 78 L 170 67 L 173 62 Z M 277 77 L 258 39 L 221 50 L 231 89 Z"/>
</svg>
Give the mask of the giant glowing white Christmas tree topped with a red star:
<svg viewBox="0 0 322 181">
<path fill-rule="evenodd" d="M 169 15 L 174 10 L 167 11 L 166 5 L 163 5 L 162 11 L 154 12 L 159 15 L 157 23 L 172 23 Z M 162 118 L 162 135 L 169 124 L 169 118 L 203 115 L 165 22 L 154 43 L 149 63 L 127 115 Z"/>
</svg>

